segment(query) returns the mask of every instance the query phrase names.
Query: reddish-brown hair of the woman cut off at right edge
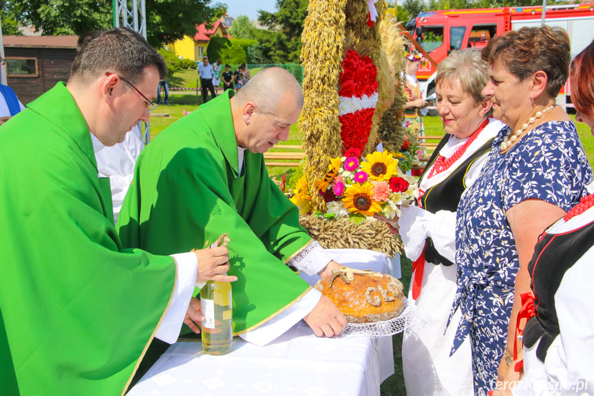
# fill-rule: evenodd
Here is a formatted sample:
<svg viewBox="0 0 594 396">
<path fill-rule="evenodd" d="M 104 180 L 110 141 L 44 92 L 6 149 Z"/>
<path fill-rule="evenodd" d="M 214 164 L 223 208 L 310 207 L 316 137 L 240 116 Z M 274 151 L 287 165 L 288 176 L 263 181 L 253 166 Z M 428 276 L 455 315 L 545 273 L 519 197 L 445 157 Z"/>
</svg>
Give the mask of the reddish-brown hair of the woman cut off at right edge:
<svg viewBox="0 0 594 396">
<path fill-rule="evenodd" d="M 575 56 L 569 76 L 575 109 L 594 117 L 594 41 Z"/>
</svg>

